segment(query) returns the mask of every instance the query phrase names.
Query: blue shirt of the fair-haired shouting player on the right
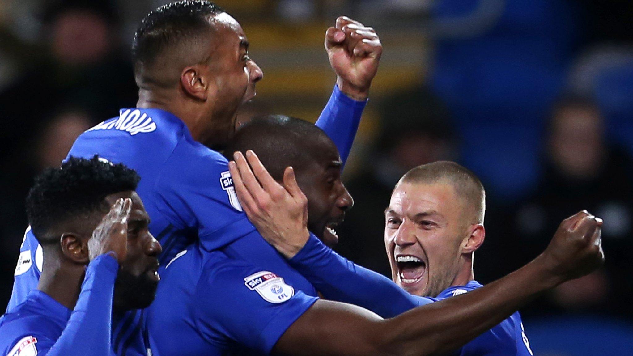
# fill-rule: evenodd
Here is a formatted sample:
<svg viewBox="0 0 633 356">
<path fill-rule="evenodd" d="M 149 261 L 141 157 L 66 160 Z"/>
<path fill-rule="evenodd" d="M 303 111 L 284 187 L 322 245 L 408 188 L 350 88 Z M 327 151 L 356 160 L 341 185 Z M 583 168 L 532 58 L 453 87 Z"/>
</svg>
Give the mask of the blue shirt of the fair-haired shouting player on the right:
<svg viewBox="0 0 633 356">
<path fill-rule="evenodd" d="M 465 286 L 445 289 L 437 298 L 411 295 L 381 274 L 341 257 L 315 236 L 310 236 L 306 245 L 290 262 L 325 298 L 353 303 L 385 318 L 481 287 L 477 281 L 470 281 Z M 515 312 L 453 354 L 529 356 L 532 355 L 532 350 L 521 317 Z"/>
</svg>

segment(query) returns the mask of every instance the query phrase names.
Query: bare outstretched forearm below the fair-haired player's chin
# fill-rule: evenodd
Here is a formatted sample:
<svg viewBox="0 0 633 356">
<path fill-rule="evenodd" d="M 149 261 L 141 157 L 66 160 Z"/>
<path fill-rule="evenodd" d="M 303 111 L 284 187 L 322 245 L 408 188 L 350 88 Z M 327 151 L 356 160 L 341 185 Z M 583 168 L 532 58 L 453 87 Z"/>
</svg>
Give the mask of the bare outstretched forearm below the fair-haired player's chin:
<svg viewBox="0 0 633 356">
<path fill-rule="evenodd" d="M 467 294 L 425 305 L 385 321 L 384 342 L 398 355 L 449 352 L 510 317 L 561 280 L 539 258 L 522 269 Z"/>
</svg>

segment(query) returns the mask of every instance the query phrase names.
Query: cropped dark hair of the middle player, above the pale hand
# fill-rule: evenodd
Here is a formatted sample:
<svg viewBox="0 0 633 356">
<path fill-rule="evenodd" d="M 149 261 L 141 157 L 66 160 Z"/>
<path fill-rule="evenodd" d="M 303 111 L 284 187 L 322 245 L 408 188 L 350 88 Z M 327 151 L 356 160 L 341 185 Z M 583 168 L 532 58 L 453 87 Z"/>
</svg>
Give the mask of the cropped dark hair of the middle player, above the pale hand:
<svg viewBox="0 0 633 356">
<path fill-rule="evenodd" d="M 301 172 L 304 165 L 316 160 L 330 137 L 315 124 L 285 115 L 261 115 L 242 125 L 224 149 L 228 160 L 233 153 L 252 149 L 273 179 L 282 181 L 286 167 Z"/>
</svg>

